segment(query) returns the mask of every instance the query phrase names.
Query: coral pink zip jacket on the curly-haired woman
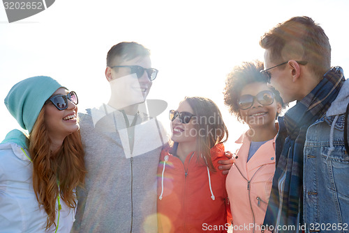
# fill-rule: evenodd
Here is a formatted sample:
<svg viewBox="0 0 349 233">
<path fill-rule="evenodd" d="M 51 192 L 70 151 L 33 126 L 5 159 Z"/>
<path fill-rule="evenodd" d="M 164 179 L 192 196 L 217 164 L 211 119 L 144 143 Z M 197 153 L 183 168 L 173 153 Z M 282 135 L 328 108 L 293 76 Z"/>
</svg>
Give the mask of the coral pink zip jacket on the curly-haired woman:
<svg viewBox="0 0 349 233">
<path fill-rule="evenodd" d="M 251 139 L 243 134 L 226 179 L 233 232 L 261 232 L 275 172 L 275 138 L 261 145 L 247 162 Z"/>
</svg>

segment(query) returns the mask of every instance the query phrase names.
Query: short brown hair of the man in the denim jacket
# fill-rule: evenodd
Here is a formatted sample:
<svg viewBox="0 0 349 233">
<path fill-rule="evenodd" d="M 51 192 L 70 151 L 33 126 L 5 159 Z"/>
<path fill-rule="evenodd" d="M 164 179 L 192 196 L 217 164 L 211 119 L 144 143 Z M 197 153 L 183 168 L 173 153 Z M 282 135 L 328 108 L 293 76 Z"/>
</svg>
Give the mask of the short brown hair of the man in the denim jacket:
<svg viewBox="0 0 349 233">
<path fill-rule="evenodd" d="M 319 79 L 331 67 L 329 39 L 310 17 L 292 17 L 276 25 L 262 36 L 260 46 L 270 51 L 270 59 L 276 64 L 299 58 L 307 61 L 309 70 Z"/>
</svg>

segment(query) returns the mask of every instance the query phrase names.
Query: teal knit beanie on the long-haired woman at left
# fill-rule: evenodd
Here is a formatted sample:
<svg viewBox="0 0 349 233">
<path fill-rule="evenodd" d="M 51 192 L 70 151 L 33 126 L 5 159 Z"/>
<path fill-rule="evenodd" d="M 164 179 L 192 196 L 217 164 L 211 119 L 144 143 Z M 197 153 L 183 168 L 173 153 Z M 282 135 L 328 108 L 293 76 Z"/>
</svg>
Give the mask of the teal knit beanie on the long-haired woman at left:
<svg viewBox="0 0 349 233">
<path fill-rule="evenodd" d="M 15 84 L 5 98 L 5 105 L 11 115 L 29 134 L 46 100 L 62 88 L 56 80 L 37 76 L 24 79 Z"/>
</svg>

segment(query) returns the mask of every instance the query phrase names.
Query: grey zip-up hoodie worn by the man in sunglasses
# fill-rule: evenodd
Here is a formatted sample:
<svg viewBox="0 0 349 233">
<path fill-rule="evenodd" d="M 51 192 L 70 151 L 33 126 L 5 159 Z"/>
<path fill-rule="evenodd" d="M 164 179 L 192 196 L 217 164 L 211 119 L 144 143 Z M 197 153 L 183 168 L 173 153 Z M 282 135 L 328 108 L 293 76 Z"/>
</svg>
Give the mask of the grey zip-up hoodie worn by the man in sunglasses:
<svg viewBox="0 0 349 233">
<path fill-rule="evenodd" d="M 103 105 L 80 113 L 80 131 L 88 174 L 72 232 L 157 232 L 156 171 L 168 140 L 160 122 L 140 113 L 127 129 L 124 115 Z"/>
</svg>

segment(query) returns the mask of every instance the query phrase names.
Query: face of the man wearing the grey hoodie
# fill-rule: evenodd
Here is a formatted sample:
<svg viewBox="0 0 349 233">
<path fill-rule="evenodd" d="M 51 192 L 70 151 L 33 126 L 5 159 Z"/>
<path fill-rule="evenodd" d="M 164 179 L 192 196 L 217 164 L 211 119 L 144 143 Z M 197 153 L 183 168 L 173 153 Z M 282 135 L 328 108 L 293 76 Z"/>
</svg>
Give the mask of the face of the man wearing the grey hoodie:
<svg viewBox="0 0 349 233">
<path fill-rule="evenodd" d="M 147 95 L 152 85 L 147 72 L 136 74 L 128 65 L 138 65 L 145 69 L 151 68 L 149 56 L 138 56 L 129 61 L 121 61 L 112 66 L 126 67 L 107 67 L 106 76 L 112 89 L 112 97 L 117 101 L 119 108 L 140 104 L 147 99 Z"/>
</svg>

